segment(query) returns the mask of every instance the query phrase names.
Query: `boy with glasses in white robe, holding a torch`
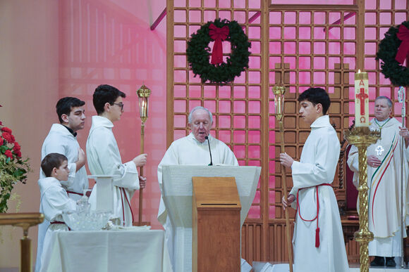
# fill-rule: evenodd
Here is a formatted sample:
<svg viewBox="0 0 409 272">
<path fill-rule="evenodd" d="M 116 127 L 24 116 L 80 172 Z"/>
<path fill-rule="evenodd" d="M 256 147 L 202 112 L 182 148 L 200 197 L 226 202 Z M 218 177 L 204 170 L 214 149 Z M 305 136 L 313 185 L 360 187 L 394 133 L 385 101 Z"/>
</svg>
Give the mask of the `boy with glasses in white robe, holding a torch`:
<svg viewBox="0 0 409 272">
<path fill-rule="evenodd" d="M 145 177 L 138 175 L 136 167 L 146 164 L 147 155 L 141 154 L 130 162 L 122 163 L 118 144 L 112 133 L 114 122 L 121 119 L 123 98 L 126 94 L 114 86 L 99 85 L 92 102 L 97 116 L 92 116 L 92 125 L 87 139 L 87 160 L 93 175 L 119 176 L 114 178 L 114 216 L 121 226 L 132 226 L 133 213 L 130 200 L 135 190 L 145 188 Z M 97 204 L 98 183 L 92 188 L 91 208 Z"/>
</svg>

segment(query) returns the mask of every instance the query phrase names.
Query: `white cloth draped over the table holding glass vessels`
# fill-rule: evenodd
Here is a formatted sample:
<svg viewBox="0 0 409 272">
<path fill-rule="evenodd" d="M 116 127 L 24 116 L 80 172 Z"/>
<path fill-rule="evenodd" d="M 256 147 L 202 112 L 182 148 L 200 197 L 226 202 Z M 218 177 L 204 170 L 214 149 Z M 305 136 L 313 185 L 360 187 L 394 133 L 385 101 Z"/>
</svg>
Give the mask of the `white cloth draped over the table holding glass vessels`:
<svg viewBox="0 0 409 272">
<path fill-rule="evenodd" d="M 171 272 L 164 231 L 55 231 L 42 271 Z"/>
</svg>

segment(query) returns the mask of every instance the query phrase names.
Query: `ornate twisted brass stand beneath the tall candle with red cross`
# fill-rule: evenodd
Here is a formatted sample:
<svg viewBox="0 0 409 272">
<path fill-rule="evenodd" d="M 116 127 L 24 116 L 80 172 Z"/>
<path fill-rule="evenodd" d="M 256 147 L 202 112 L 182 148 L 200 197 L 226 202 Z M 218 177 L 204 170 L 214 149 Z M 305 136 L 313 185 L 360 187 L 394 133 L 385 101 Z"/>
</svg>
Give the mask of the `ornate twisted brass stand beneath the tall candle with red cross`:
<svg viewBox="0 0 409 272">
<path fill-rule="evenodd" d="M 368 230 L 368 185 L 367 185 L 367 147 L 376 143 L 381 137 L 380 131 L 370 131 L 369 127 L 355 127 L 351 131 L 344 131 L 344 138 L 351 145 L 358 148 L 360 167 L 358 197 L 360 228 L 354 234 L 355 241 L 360 243 L 360 271 L 370 271 L 368 244 L 374 240 L 374 233 Z"/>
</svg>

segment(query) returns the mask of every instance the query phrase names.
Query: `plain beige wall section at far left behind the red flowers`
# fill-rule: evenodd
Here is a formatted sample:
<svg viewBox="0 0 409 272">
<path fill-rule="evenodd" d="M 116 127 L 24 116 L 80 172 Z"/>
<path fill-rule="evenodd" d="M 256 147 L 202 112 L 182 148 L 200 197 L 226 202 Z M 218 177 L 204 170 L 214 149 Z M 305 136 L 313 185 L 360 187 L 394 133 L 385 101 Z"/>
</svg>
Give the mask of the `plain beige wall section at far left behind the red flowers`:
<svg viewBox="0 0 409 272">
<path fill-rule="evenodd" d="M 39 152 L 54 122 L 50 105 L 58 97 L 57 11 L 55 0 L 0 0 L 0 120 L 13 130 L 23 157 L 30 157 L 34 168 L 27 184 L 14 190 L 21 197 L 20 212 L 39 209 Z M 14 202 L 10 207 L 9 212 L 16 211 Z M 0 232 L 0 270 L 17 267 L 22 231 L 0 226 Z M 37 247 L 37 227 L 29 235 Z"/>
</svg>

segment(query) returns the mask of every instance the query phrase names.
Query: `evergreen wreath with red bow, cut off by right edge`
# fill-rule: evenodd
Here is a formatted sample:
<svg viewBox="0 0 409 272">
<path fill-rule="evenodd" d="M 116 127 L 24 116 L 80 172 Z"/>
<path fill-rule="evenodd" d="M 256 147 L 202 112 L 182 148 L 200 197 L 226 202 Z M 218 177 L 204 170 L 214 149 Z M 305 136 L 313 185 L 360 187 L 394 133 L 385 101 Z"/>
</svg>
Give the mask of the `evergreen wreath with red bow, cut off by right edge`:
<svg viewBox="0 0 409 272">
<path fill-rule="evenodd" d="M 381 60 L 381 72 L 394 86 L 409 86 L 409 69 L 402 65 L 409 57 L 409 21 L 391 27 L 379 44 L 377 60 Z M 409 65 L 406 63 L 406 65 Z"/>
</svg>

